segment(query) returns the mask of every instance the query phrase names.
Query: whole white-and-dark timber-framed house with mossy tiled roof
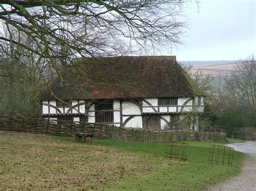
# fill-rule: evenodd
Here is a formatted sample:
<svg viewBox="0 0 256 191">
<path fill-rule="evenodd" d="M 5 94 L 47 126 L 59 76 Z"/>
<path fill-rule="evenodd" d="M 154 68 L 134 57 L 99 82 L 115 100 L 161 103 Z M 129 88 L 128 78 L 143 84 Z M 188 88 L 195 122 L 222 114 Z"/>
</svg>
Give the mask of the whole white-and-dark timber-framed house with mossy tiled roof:
<svg viewBox="0 0 256 191">
<path fill-rule="evenodd" d="M 193 113 L 198 130 L 204 93 L 176 56 L 86 58 L 75 67 L 65 69 L 63 81 L 53 81 L 41 96 L 44 118 L 165 129 Z"/>
</svg>

